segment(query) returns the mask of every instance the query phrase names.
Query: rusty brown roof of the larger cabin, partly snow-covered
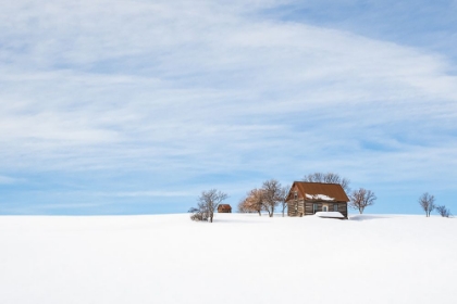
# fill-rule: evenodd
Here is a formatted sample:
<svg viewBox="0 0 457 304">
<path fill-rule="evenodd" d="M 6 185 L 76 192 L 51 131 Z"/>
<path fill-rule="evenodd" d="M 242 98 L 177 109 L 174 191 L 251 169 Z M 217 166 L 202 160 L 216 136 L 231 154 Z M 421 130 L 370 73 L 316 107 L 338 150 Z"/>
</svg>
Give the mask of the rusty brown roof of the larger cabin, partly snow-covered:
<svg viewBox="0 0 457 304">
<path fill-rule="evenodd" d="M 333 201 L 333 202 L 348 202 L 349 201 L 349 199 L 346 195 L 346 192 L 344 192 L 343 187 L 339 183 L 294 181 L 294 183 L 292 185 L 291 191 L 294 188 L 294 186 L 297 186 L 300 197 L 306 198 L 307 200 L 321 201 L 322 198 L 326 195 L 333 200 L 324 200 L 324 201 Z M 316 199 L 309 198 L 310 195 L 316 197 Z"/>
</svg>

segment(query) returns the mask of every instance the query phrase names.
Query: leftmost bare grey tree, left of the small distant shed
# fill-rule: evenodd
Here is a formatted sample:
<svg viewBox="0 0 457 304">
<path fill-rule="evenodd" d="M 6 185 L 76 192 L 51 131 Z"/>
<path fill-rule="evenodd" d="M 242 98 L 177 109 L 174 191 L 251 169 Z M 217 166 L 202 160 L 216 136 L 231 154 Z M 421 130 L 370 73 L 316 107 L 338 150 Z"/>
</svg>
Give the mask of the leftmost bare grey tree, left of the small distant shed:
<svg viewBox="0 0 457 304">
<path fill-rule="evenodd" d="M 228 198 L 227 194 L 211 189 L 209 191 L 202 191 L 201 195 L 198 198 L 198 206 L 193 207 L 189 212 L 193 213 L 190 219 L 193 220 L 208 220 L 212 223 L 214 217 L 214 211 L 218 208 L 219 204 Z"/>
</svg>

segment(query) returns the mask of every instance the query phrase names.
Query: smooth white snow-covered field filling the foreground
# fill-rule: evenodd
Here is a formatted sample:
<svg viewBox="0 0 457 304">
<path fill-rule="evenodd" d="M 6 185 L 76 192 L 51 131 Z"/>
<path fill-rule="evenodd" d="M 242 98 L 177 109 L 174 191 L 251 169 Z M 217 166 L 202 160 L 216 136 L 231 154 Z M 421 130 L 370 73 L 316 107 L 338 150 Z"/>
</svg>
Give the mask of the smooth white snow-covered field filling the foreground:
<svg viewBox="0 0 457 304">
<path fill-rule="evenodd" d="M 457 219 L 1 216 L 0 303 L 457 303 Z"/>
</svg>

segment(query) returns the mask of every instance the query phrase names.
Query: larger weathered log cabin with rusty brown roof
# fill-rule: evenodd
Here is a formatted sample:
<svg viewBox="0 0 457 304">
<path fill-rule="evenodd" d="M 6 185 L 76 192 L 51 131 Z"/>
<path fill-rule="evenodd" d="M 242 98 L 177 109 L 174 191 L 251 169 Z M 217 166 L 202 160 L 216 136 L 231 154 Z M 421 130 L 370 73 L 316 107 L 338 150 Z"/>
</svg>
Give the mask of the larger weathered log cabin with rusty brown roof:
<svg viewBox="0 0 457 304">
<path fill-rule="evenodd" d="M 306 216 L 317 212 L 339 212 L 347 218 L 349 199 L 338 183 L 294 181 L 287 195 L 287 215 Z"/>
</svg>

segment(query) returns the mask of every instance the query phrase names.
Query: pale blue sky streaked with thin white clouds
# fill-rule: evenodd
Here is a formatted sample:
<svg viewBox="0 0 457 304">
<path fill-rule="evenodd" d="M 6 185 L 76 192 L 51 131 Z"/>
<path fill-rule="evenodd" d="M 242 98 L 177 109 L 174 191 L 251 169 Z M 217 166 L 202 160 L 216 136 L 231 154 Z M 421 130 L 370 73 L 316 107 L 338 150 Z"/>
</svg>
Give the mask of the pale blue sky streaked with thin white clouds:
<svg viewBox="0 0 457 304">
<path fill-rule="evenodd" d="M 185 213 L 314 172 L 457 213 L 457 1 L 0 0 L 0 214 Z"/>
</svg>

